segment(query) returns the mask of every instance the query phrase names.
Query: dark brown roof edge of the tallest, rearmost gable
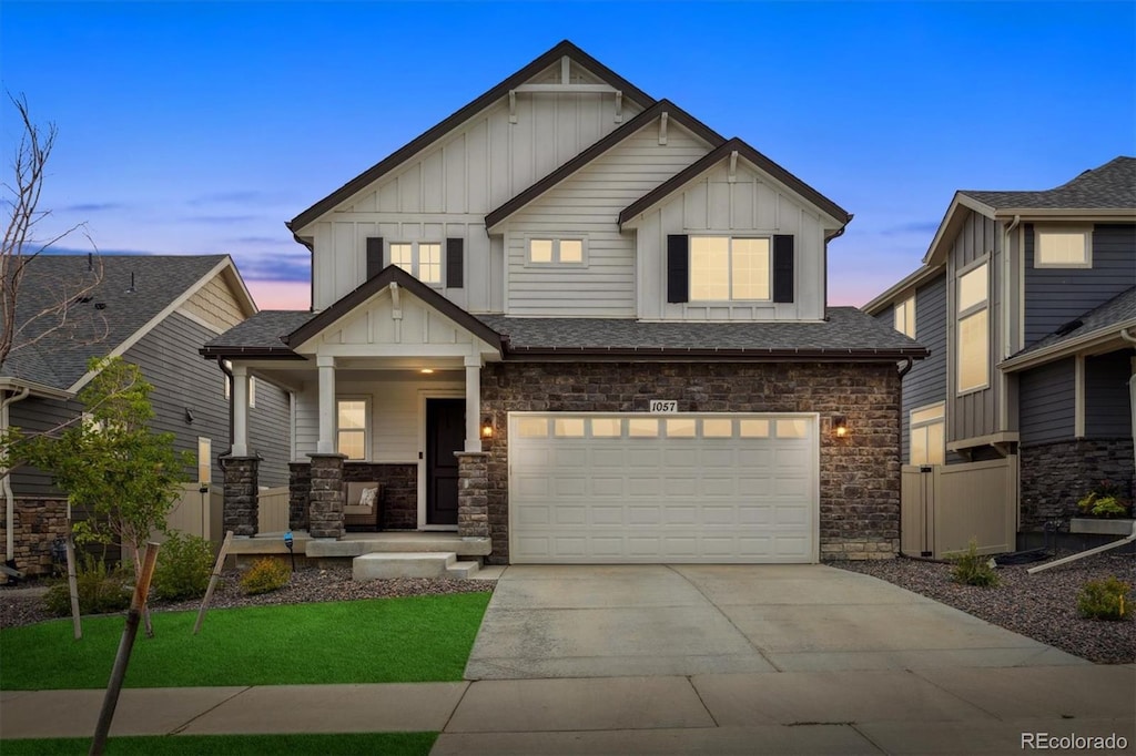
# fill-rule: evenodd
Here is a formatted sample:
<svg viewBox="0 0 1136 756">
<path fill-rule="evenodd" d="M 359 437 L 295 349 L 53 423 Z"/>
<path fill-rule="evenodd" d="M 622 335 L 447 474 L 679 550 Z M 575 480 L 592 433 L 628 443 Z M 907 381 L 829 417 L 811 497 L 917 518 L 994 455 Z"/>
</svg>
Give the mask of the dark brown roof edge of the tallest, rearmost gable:
<svg viewBox="0 0 1136 756">
<path fill-rule="evenodd" d="M 359 174 L 358 176 L 349 180 L 340 188 L 335 190 L 334 192 L 325 196 L 319 202 L 315 203 L 314 205 L 311 205 L 310 208 L 298 215 L 295 218 L 286 222 L 285 226 L 287 226 L 289 229 L 291 229 L 293 233 L 300 230 L 311 221 L 316 220 L 319 216 L 333 209 L 341 202 L 350 199 L 351 195 L 356 194 L 357 192 L 362 191 L 369 184 L 378 180 L 385 174 L 394 170 L 395 168 L 404 163 L 407 160 L 412 158 L 415 154 L 421 152 L 431 144 L 433 144 L 435 141 L 437 141 L 452 129 L 463 124 L 469 118 L 473 118 L 482 110 L 488 108 L 494 102 L 506 96 L 509 93 L 509 90 L 516 89 L 520 84 L 524 84 L 526 81 L 536 76 L 537 74 L 540 74 L 545 68 L 553 65 L 565 56 L 571 58 L 582 67 L 586 68 L 587 70 L 595 74 L 600 78 L 608 81 L 617 90 L 620 90 L 624 93 L 624 96 L 634 100 L 644 108 L 654 104 L 654 98 L 649 95 L 646 92 L 638 89 L 637 86 L 625 79 L 623 76 L 619 76 L 613 70 L 611 70 L 610 68 L 608 68 L 607 66 L 604 66 L 599 60 L 587 54 L 579 48 L 577 48 L 568 40 L 563 40 L 548 52 L 537 57 L 535 60 L 533 60 L 524 68 L 512 74 L 508 78 L 506 78 L 496 86 L 490 89 L 487 92 L 478 96 L 469 104 L 453 112 L 451 116 L 442 120 L 436 126 L 433 126 L 423 134 L 418 135 L 409 143 L 407 143 L 404 146 L 395 150 L 390 156 L 384 158 L 382 161 L 375 163 L 364 173 Z"/>
</svg>

